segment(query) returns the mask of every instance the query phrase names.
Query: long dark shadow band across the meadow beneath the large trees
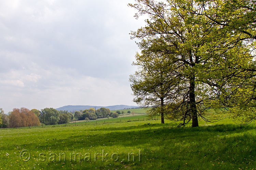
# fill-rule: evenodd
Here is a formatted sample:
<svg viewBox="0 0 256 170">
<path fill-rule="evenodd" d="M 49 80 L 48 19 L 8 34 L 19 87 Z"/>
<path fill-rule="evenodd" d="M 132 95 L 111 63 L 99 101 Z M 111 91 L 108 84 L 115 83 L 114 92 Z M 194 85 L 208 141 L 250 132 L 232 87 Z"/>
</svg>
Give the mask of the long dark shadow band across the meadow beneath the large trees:
<svg viewBox="0 0 256 170">
<path fill-rule="evenodd" d="M 240 125 L 213 125 L 202 126 L 198 128 L 177 128 L 161 124 L 144 124 L 137 126 L 127 126 L 118 128 L 98 128 L 90 129 L 87 134 L 73 135 L 59 134 L 63 138 L 56 139 L 49 143 L 43 140 L 40 146 L 37 143 L 28 143 L 20 147 L 28 148 L 48 148 L 53 142 L 57 145 L 51 146 L 51 149 L 65 148 L 88 148 L 89 145 L 97 146 L 115 146 L 115 147 L 138 147 L 138 146 L 169 146 L 173 143 L 182 143 L 184 140 L 188 143 L 211 141 L 218 139 L 219 136 L 232 135 L 233 133 L 243 133 L 252 130 L 252 126 Z M 80 129 L 81 130 L 81 129 Z M 120 131 L 122 130 L 122 131 Z M 97 131 L 97 132 L 95 132 Z M 102 133 L 104 132 L 104 133 Z M 56 133 L 56 135 L 58 135 Z"/>
</svg>

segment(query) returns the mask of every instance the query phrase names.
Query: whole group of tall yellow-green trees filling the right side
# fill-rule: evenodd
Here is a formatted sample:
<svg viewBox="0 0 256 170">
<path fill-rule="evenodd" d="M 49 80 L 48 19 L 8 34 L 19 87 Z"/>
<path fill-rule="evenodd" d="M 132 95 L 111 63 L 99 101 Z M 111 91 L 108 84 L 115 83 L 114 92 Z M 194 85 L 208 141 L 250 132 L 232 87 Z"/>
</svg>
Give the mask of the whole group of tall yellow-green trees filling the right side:
<svg viewBox="0 0 256 170">
<path fill-rule="evenodd" d="M 180 126 L 223 113 L 256 120 L 255 0 L 136 1 L 135 17 L 147 19 L 131 32 L 141 49 L 130 76 L 134 102 Z"/>
</svg>

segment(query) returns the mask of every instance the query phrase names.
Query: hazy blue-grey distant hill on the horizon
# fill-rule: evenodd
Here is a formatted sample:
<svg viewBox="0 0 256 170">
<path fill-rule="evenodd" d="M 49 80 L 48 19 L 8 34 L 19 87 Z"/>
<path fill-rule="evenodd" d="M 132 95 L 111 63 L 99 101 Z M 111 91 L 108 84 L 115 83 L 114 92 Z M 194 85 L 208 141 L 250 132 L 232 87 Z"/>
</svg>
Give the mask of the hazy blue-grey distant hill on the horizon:
<svg viewBox="0 0 256 170">
<path fill-rule="evenodd" d="M 96 110 L 101 108 L 101 107 L 105 107 L 105 108 L 109 108 L 111 111 L 113 111 L 113 110 L 122 110 L 124 108 L 138 108 L 139 106 L 128 106 L 128 105 L 114 105 L 114 106 L 83 106 L 83 105 L 77 105 L 77 106 L 72 106 L 72 105 L 68 105 L 68 106 L 62 106 L 62 107 L 56 108 L 56 110 L 74 112 L 74 111 L 89 109 L 89 108 L 92 108 L 92 107 L 93 108 L 96 107 Z"/>
</svg>

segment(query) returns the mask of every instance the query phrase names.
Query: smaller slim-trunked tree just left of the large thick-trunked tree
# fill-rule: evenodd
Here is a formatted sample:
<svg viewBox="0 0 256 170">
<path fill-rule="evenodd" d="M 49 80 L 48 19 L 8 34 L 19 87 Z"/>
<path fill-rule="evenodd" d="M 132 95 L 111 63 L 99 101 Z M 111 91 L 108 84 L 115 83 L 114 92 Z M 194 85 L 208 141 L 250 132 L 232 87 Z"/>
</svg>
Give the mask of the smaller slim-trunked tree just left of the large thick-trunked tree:
<svg viewBox="0 0 256 170">
<path fill-rule="evenodd" d="M 152 117 L 161 115 L 164 123 L 164 109 L 168 104 L 173 83 L 179 80 L 173 77 L 173 65 L 169 55 L 158 52 L 145 52 L 136 55 L 136 65 L 140 68 L 130 76 L 131 89 L 135 96 L 134 102 L 144 107 L 151 107 Z M 165 107 L 165 108 L 164 108 Z M 160 109 L 159 109 L 160 108 Z"/>
</svg>

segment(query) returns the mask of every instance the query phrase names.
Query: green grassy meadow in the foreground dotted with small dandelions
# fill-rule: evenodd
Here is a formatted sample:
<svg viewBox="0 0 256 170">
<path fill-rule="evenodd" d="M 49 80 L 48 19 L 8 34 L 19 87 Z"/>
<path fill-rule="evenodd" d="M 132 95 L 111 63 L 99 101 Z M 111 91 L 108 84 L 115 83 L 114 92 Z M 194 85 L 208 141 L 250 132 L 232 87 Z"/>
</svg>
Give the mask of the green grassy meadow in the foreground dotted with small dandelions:
<svg viewBox="0 0 256 170">
<path fill-rule="evenodd" d="M 198 128 L 144 120 L 0 130 L 0 169 L 255 169 L 255 124 L 225 122 L 201 122 Z"/>
</svg>

